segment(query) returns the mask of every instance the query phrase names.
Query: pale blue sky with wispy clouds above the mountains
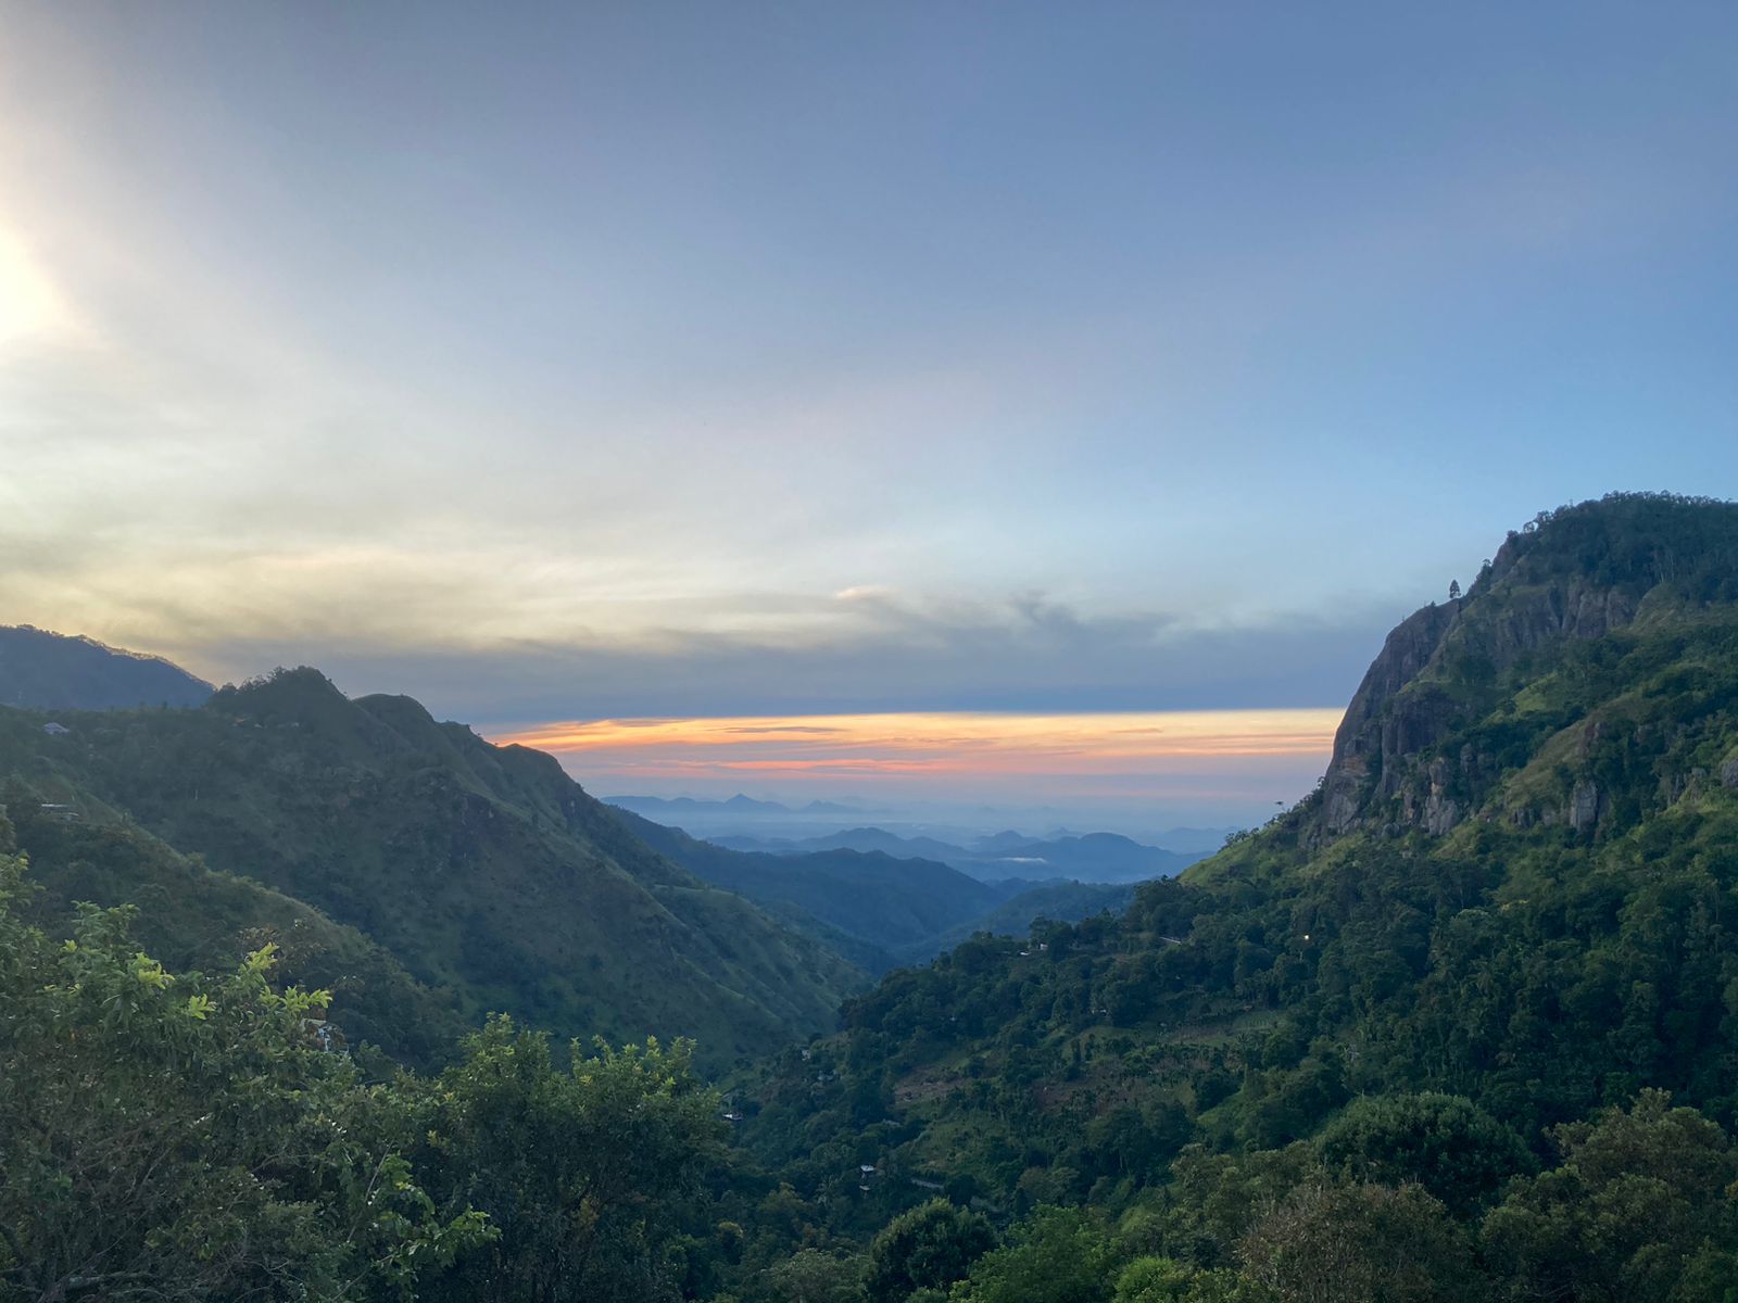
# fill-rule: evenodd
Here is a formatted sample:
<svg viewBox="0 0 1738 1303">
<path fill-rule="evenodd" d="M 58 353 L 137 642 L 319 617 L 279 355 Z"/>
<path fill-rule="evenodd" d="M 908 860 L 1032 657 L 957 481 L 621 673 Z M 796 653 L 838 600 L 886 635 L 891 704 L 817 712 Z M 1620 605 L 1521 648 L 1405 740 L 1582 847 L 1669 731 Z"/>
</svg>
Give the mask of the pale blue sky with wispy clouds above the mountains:
<svg viewBox="0 0 1738 1303">
<path fill-rule="evenodd" d="M 1008 799 L 1116 714 L 1283 737 L 1536 511 L 1738 495 L 1735 61 L 1729 3 L 0 0 L 0 622 L 687 721 L 662 794 L 742 780 L 711 719 L 1104 716 Z"/>
</svg>

